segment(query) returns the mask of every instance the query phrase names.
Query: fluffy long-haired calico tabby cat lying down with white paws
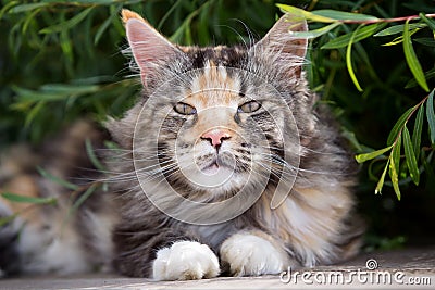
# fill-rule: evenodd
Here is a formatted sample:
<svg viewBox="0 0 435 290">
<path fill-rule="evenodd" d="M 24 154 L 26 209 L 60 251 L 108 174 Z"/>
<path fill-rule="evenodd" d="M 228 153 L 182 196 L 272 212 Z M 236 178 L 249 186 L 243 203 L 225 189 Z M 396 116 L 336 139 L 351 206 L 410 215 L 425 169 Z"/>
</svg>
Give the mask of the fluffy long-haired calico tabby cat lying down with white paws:
<svg viewBox="0 0 435 290">
<path fill-rule="evenodd" d="M 135 12 L 122 17 L 144 90 L 124 117 L 105 123 L 117 148 L 102 149 L 103 130 L 86 122 L 64 133 L 75 137 L 48 142 L 61 153 L 41 166 L 71 181 L 84 177 L 73 168 L 92 166 L 85 139 L 102 152 L 107 169 L 83 178 L 73 199 L 28 173 L 26 162 L 9 178 L 0 172 L 3 189 L 26 176 L 26 194 L 59 200 L 0 229 L 0 269 L 64 275 L 110 264 L 126 276 L 186 280 L 279 274 L 356 255 L 363 226 L 355 162 L 309 90 L 307 39 L 289 31 L 307 31 L 306 22 L 284 15 L 257 42 L 198 48 L 171 43 Z M 89 180 L 108 189 L 65 222 Z M 14 206 L 0 203 L 0 217 Z"/>
</svg>

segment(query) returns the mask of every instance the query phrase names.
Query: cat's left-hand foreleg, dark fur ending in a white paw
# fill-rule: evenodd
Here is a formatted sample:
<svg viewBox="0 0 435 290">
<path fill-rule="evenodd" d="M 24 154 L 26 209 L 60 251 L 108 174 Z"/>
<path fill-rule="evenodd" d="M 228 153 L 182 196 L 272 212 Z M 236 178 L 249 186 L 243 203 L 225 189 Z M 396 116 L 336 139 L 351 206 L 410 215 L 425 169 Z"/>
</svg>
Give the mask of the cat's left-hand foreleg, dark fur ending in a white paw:
<svg viewBox="0 0 435 290">
<path fill-rule="evenodd" d="M 192 232 L 175 228 L 130 228 L 115 230 L 114 267 L 133 277 L 154 280 L 212 278 L 220 274 L 213 251 L 198 242 Z"/>
</svg>

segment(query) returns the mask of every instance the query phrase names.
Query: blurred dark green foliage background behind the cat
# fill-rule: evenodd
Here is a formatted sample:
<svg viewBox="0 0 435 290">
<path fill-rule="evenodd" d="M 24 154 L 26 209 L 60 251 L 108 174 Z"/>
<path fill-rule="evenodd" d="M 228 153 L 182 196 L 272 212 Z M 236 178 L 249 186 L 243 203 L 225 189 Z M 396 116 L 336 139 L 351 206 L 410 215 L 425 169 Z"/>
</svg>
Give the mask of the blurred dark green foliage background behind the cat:
<svg viewBox="0 0 435 290">
<path fill-rule="evenodd" d="M 262 37 L 281 15 L 276 3 L 306 10 L 361 12 L 382 18 L 435 12 L 430 0 L 2 0 L 1 3 L 0 150 L 17 142 L 38 144 L 76 118 L 102 121 L 107 115 L 120 116 L 129 108 L 140 86 L 129 77 L 129 60 L 121 52 L 126 48 L 120 20 L 122 8 L 144 15 L 174 42 L 200 46 L 249 41 L 244 24 L 256 38 Z M 402 23 L 394 25 L 397 24 Z M 310 29 L 322 26 L 313 22 Z M 322 96 L 322 102 L 331 105 L 356 153 L 364 153 L 385 148 L 399 116 L 427 92 L 413 80 L 402 47 L 382 46 L 394 37 L 369 37 L 353 43 L 353 70 L 363 88 L 358 91 L 346 68 L 346 47 L 321 49 L 331 39 L 355 31 L 357 26 L 349 24 L 313 39 L 307 72 L 312 89 Z M 414 49 L 433 89 L 434 35 L 422 29 L 414 36 L 426 40 L 414 43 Z M 427 130 L 424 124 L 421 143 L 424 152 L 431 153 Z M 388 182 L 382 196 L 373 193 L 385 159 L 376 159 L 370 166 L 361 165 L 357 191 L 361 212 L 371 226 L 368 235 L 371 248 L 435 240 L 435 225 L 428 223 L 435 215 L 435 163 L 425 160 L 419 186 L 402 176 L 400 202 Z M 424 228 L 420 227 L 422 223 Z"/>
</svg>

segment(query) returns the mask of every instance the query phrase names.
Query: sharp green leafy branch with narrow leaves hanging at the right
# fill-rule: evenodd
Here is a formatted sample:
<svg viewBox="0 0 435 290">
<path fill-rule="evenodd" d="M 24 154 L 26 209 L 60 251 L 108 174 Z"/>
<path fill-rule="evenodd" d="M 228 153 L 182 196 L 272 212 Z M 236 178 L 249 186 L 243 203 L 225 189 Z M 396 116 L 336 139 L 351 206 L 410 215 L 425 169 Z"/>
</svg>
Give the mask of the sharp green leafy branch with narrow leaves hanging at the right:
<svg viewBox="0 0 435 290">
<path fill-rule="evenodd" d="M 328 25 L 313 29 L 310 31 L 290 31 L 295 37 L 303 38 L 316 38 L 328 34 L 333 29 L 347 24 L 360 24 L 357 28 L 348 34 L 338 36 L 331 39 L 321 49 L 341 49 L 346 48 L 346 67 L 349 76 L 353 81 L 355 87 L 359 91 L 363 91 L 360 83 L 357 79 L 353 64 L 352 64 L 352 45 L 369 38 L 394 36 L 400 34 L 393 41 L 384 46 L 394 46 L 402 43 L 403 54 L 409 70 L 411 71 L 415 83 L 426 92 L 430 91 L 426 79 L 434 75 L 434 70 L 424 74 L 423 68 L 415 54 L 411 36 L 421 29 L 430 29 L 435 37 L 435 14 L 423 14 L 403 16 L 403 17 L 391 17 L 391 18 L 378 18 L 372 15 L 349 13 L 335 10 L 316 10 L 316 11 L 304 11 L 290 5 L 278 4 L 285 13 L 290 13 L 295 17 L 300 17 L 309 22 L 327 23 Z M 419 21 L 418 23 L 410 23 L 411 21 Z M 389 23 L 405 22 L 405 24 L 394 25 L 390 27 L 386 26 Z M 420 42 L 420 41 L 419 41 Z M 435 46 L 433 41 L 421 41 L 420 43 Z M 410 81 L 409 81 L 410 84 Z M 410 87 L 410 86 L 406 86 Z M 381 177 L 377 180 L 375 193 L 381 193 L 385 181 L 386 174 L 388 172 L 390 178 L 390 185 L 396 192 L 397 198 L 400 200 L 400 180 L 410 180 L 417 186 L 420 184 L 420 175 L 424 171 L 424 165 L 432 159 L 433 151 L 435 150 L 435 114 L 434 114 L 434 91 L 432 90 L 423 100 L 421 100 L 414 106 L 408 109 L 397 121 L 393 129 L 390 130 L 387 138 L 387 147 L 375 150 L 369 153 L 359 154 L 356 156 L 357 162 L 363 163 L 370 160 L 373 161 L 386 161 Z M 424 104 L 426 103 L 426 110 L 424 111 Z M 417 113 L 412 136 L 407 127 L 408 122 Z M 423 118 L 426 115 L 426 121 L 430 130 L 431 148 L 421 148 Z M 432 151 L 426 157 L 424 151 Z M 388 155 L 386 153 L 389 152 Z M 403 154 L 401 154 L 403 153 Z M 405 160 L 405 162 L 401 162 Z M 422 164 L 419 166 L 419 161 Z M 371 164 L 372 165 L 372 164 Z M 371 171 L 371 166 L 369 167 Z M 371 172 L 369 172 L 371 176 Z"/>
</svg>

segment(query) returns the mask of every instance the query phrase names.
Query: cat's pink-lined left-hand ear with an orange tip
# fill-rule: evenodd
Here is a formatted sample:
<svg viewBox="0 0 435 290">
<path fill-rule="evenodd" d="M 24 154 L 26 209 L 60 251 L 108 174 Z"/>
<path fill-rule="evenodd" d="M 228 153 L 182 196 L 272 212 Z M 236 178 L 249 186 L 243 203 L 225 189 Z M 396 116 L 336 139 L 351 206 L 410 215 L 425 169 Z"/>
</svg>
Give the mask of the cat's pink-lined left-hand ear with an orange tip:
<svg viewBox="0 0 435 290">
<path fill-rule="evenodd" d="M 142 84 L 147 86 L 147 79 L 152 77 L 157 67 L 181 51 L 139 14 L 124 9 L 122 20 Z"/>
</svg>

